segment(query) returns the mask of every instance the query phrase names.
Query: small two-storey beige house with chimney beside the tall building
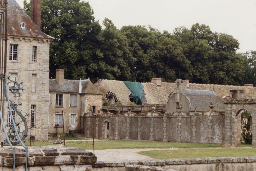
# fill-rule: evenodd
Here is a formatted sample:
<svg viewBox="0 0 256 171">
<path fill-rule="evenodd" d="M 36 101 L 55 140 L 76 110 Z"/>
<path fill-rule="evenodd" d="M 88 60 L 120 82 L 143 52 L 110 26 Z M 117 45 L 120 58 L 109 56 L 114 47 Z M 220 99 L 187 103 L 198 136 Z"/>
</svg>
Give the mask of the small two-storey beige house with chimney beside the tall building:
<svg viewBox="0 0 256 171">
<path fill-rule="evenodd" d="M 65 133 L 80 129 L 80 116 L 102 107 L 102 93 L 87 80 L 65 80 L 64 69 L 56 69 L 56 78 L 49 79 L 49 133 Z M 62 117 L 63 112 L 63 117 Z"/>
</svg>

